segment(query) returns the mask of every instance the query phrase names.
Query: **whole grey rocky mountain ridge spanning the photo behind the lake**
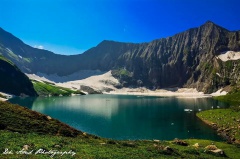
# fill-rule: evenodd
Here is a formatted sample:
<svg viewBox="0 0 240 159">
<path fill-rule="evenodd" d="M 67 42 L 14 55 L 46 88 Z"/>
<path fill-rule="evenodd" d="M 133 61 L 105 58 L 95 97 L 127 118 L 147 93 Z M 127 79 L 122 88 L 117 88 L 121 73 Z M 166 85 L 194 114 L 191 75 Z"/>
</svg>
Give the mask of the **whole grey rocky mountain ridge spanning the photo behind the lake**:
<svg viewBox="0 0 240 159">
<path fill-rule="evenodd" d="M 239 81 L 239 60 L 217 58 L 240 51 L 240 31 L 211 21 L 149 43 L 103 41 L 80 55 L 57 55 L 24 44 L 0 29 L 0 52 L 23 72 L 65 76 L 79 70 L 112 70 L 122 86 L 194 87 L 213 92 Z"/>
</svg>

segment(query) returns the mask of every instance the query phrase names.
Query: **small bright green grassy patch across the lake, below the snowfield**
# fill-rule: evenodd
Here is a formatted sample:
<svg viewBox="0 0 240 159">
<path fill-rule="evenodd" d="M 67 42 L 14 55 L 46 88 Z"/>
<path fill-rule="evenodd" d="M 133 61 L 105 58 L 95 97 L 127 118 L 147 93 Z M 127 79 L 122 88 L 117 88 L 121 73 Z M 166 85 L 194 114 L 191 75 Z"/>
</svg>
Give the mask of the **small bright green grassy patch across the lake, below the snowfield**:
<svg viewBox="0 0 240 159">
<path fill-rule="evenodd" d="M 49 82 L 32 81 L 35 91 L 40 96 L 70 96 L 72 94 L 84 95 L 81 91 L 75 91 L 64 87 L 55 86 Z"/>
</svg>

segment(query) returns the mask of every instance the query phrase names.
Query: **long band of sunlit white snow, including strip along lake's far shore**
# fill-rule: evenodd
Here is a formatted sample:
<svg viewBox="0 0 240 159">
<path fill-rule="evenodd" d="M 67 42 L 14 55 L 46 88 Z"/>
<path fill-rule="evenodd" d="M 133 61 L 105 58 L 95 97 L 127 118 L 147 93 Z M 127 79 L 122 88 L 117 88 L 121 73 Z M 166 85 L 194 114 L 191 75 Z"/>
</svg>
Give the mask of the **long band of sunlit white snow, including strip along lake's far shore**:
<svg viewBox="0 0 240 159">
<path fill-rule="evenodd" d="M 88 70 L 88 71 L 85 70 L 80 72 L 82 73 L 85 72 L 85 75 L 86 75 L 88 73 L 94 72 L 94 70 Z M 100 72 L 97 71 L 97 73 L 100 73 Z M 98 74 L 98 75 L 92 75 L 85 79 L 79 79 L 79 80 L 73 80 L 73 81 L 67 81 L 67 82 L 54 82 L 48 79 L 48 77 L 55 77 L 55 78 L 60 78 L 58 79 L 58 81 L 61 81 L 61 78 L 63 77 L 60 77 L 57 75 L 48 75 L 46 77 L 39 77 L 38 75 L 28 74 L 28 77 L 30 79 L 35 79 L 39 81 L 52 82 L 52 83 L 55 83 L 55 85 L 57 86 L 75 89 L 75 90 L 80 89 L 81 86 L 88 86 L 93 88 L 94 90 L 101 91 L 105 94 L 123 94 L 123 95 L 138 95 L 138 96 L 176 96 L 177 98 L 205 98 L 205 97 L 212 97 L 212 96 L 227 94 L 226 91 L 222 91 L 222 90 L 218 90 L 217 92 L 214 92 L 212 94 L 204 94 L 203 92 L 198 92 L 196 88 L 166 88 L 166 89 L 157 89 L 157 90 L 150 90 L 145 87 L 116 88 L 115 86 L 119 86 L 120 82 L 118 81 L 118 79 L 112 76 L 111 71 Z M 78 76 L 74 76 L 74 77 L 76 79 L 76 77 Z"/>
</svg>

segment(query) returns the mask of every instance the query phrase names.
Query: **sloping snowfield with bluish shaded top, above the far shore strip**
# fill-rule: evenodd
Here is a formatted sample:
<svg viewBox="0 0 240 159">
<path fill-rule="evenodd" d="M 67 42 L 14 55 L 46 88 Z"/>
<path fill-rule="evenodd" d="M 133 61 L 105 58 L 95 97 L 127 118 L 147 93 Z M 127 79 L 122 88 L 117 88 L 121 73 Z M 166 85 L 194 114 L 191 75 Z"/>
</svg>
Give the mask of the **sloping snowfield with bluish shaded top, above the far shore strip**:
<svg viewBox="0 0 240 159">
<path fill-rule="evenodd" d="M 106 73 L 99 70 L 82 70 L 69 76 L 58 76 L 56 74 L 46 75 L 43 73 L 26 74 L 30 79 L 37 81 L 46 81 L 54 83 L 57 86 L 80 89 L 81 86 L 88 86 L 94 90 L 105 92 L 106 90 L 115 90 L 119 81 L 112 76 L 111 71 Z"/>
</svg>

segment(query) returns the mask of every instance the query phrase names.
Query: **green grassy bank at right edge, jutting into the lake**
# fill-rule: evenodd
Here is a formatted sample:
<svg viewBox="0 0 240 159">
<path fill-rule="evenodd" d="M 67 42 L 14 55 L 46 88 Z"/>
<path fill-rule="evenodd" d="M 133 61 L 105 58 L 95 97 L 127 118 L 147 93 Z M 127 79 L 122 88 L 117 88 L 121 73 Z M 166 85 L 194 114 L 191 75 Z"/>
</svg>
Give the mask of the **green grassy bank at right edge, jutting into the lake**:
<svg viewBox="0 0 240 159">
<path fill-rule="evenodd" d="M 229 93 L 215 99 L 231 104 L 228 109 L 203 111 L 197 116 L 211 125 L 231 143 L 240 145 L 240 91 Z"/>
</svg>

